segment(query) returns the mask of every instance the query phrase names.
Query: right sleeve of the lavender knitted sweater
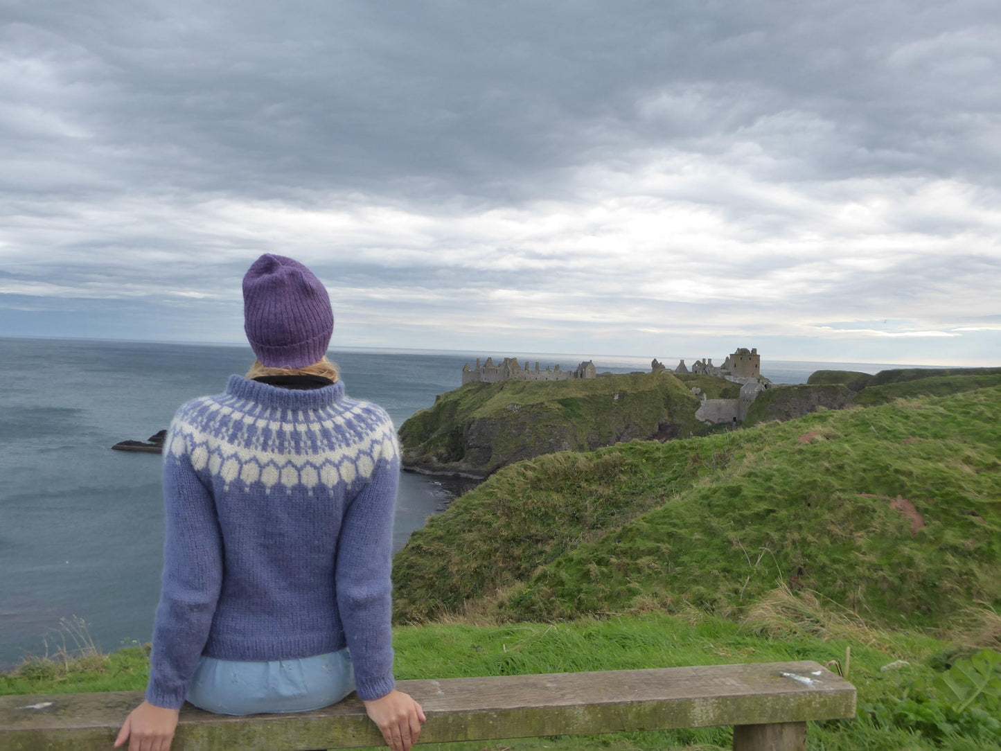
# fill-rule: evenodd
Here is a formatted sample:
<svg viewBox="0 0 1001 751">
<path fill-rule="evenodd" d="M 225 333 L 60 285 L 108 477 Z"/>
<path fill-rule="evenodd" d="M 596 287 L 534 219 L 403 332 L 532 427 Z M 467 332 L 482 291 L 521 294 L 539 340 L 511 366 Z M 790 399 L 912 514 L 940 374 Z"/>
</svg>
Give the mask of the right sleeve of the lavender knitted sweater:
<svg viewBox="0 0 1001 751">
<path fill-rule="evenodd" d="M 335 569 L 337 609 L 363 701 L 380 699 L 395 687 L 390 577 L 399 455 L 385 420 L 391 438 L 383 444 L 371 480 L 344 512 Z"/>
</svg>

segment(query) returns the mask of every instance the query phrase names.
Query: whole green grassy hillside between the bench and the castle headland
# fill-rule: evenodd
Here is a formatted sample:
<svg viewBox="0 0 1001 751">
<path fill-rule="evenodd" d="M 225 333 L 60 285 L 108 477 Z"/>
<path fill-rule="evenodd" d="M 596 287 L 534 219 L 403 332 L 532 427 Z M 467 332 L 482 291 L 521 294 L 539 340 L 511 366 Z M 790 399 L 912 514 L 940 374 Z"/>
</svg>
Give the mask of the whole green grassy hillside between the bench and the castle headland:
<svg viewBox="0 0 1001 751">
<path fill-rule="evenodd" d="M 395 560 L 396 617 L 696 608 L 779 587 L 886 627 L 1001 607 L 1001 387 L 496 473 Z"/>
</svg>

